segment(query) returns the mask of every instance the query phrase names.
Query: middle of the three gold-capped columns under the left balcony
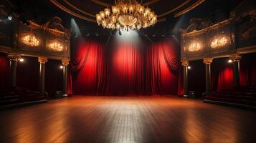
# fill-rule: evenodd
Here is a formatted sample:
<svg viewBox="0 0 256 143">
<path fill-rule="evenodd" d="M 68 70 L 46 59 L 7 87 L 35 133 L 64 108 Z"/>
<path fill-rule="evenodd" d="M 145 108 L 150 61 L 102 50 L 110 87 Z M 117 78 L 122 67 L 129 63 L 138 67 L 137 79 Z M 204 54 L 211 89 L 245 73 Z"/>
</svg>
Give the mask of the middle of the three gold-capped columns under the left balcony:
<svg viewBox="0 0 256 143">
<path fill-rule="evenodd" d="M 47 63 L 47 58 L 46 57 L 38 57 L 38 62 L 40 63 L 39 92 L 44 92 L 44 71 L 45 71 L 45 63 Z"/>
</svg>

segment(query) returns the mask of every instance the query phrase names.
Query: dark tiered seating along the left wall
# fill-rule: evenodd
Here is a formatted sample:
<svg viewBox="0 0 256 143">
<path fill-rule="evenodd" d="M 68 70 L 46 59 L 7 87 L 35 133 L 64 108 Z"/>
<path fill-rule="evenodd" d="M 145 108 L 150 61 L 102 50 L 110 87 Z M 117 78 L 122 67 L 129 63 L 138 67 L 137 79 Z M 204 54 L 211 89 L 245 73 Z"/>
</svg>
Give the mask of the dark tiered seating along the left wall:
<svg viewBox="0 0 256 143">
<path fill-rule="evenodd" d="M 17 87 L 0 87 L 0 109 L 47 102 L 47 93 Z"/>
</svg>

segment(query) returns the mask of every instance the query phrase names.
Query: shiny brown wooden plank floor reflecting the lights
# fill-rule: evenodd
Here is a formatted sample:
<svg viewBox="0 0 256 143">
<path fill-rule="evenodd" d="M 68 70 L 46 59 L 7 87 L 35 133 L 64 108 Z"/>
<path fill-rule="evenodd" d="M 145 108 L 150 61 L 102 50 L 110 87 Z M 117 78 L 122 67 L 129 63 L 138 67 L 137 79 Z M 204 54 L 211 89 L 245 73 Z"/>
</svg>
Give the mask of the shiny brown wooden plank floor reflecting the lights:
<svg viewBox="0 0 256 143">
<path fill-rule="evenodd" d="M 71 97 L 0 117 L 4 143 L 256 141 L 256 112 L 179 97 Z"/>
</svg>

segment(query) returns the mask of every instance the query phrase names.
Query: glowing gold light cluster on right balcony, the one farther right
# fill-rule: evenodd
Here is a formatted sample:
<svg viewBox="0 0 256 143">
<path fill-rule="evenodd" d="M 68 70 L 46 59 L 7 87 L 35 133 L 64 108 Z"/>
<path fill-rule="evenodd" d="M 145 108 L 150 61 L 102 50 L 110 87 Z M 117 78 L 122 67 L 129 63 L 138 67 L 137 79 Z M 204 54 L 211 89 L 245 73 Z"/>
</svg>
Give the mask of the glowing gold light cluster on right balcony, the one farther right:
<svg viewBox="0 0 256 143">
<path fill-rule="evenodd" d="M 219 49 L 230 44 L 230 38 L 223 33 L 224 32 L 213 37 L 210 45 L 212 49 Z"/>
</svg>

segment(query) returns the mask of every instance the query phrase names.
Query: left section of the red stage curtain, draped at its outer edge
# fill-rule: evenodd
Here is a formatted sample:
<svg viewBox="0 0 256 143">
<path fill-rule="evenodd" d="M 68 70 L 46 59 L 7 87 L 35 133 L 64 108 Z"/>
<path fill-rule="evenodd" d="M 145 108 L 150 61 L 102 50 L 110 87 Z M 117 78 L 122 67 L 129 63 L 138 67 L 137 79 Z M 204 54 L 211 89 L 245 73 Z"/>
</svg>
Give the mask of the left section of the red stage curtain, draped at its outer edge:
<svg viewBox="0 0 256 143">
<path fill-rule="evenodd" d="M 83 43 L 72 55 L 72 89 L 76 94 L 101 94 L 105 82 L 103 47 L 96 42 Z"/>
</svg>

